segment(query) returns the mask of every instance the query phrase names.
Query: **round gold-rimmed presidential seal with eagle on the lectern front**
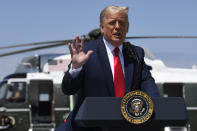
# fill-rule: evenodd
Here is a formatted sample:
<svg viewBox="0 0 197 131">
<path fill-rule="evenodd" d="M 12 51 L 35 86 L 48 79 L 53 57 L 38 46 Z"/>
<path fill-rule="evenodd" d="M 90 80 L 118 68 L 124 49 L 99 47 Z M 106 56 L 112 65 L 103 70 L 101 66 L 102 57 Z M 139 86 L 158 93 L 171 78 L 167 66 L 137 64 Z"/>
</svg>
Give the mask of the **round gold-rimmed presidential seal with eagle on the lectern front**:
<svg viewBox="0 0 197 131">
<path fill-rule="evenodd" d="M 153 102 L 144 92 L 136 90 L 127 93 L 121 102 L 122 116 L 132 124 L 143 124 L 153 114 Z"/>
</svg>

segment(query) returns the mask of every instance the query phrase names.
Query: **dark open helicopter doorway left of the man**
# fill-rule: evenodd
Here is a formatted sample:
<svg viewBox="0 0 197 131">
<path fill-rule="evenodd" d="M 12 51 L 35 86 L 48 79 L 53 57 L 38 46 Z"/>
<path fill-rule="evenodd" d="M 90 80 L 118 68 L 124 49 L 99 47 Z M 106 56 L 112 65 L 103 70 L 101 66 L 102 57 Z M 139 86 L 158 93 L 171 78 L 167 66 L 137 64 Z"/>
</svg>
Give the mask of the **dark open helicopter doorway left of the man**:
<svg viewBox="0 0 197 131">
<path fill-rule="evenodd" d="M 51 80 L 31 80 L 28 91 L 32 122 L 53 122 L 53 82 Z"/>
</svg>

